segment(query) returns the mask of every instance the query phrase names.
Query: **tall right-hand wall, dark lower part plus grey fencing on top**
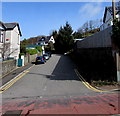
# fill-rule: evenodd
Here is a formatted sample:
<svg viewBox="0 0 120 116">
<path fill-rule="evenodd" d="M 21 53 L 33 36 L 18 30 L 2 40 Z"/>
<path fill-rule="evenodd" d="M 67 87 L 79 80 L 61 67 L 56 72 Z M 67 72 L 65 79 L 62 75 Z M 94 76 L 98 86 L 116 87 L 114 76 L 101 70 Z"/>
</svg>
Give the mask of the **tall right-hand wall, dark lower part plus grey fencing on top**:
<svg viewBox="0 0 120 116">
<path fill-rule="evenodd" d="M 87 81 L 116 81 L 116 62 L 112 54 L 112 28 L 107 28 L 76 43 L 75 60 Z"/>
</svg>

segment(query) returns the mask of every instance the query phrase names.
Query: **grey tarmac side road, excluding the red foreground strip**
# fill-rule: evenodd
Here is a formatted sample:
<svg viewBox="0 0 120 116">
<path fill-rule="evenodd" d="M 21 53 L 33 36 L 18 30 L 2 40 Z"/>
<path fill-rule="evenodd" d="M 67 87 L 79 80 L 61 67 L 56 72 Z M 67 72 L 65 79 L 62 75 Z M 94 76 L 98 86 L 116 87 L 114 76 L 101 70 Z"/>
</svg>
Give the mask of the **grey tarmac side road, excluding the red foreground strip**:
<svg viewBox="0 0 120 116">
<path fill-rule="evenodd" d="M 45 64 L 33 65 L 16 82 L 3 91 L 3 111 L 11 104 L 19 104 L 18 101 L 52 99 L 54 102 L 56 99 L 64 101 L 64 99 L 76 97 L 85 99 L 85 97 L 91 96 L 112 95 L 88 89 L 77 76 L 75 69 L 75 64 L 68 56 L 57 54 L 52 55 Z M 116 95 L 114 94 L 114 98 Z"/>
</svg>

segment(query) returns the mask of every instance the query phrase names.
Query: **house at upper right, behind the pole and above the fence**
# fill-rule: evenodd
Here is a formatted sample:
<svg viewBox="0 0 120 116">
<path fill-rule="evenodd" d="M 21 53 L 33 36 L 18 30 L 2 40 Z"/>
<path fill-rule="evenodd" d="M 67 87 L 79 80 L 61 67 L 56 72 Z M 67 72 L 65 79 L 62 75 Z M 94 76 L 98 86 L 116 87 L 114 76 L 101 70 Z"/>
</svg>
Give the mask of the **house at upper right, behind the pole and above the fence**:
<svg viewBox="0 0 120 116">
<path fill-rule="evenodd" d="M 115 7 L 115 16 L 120 20 L 120 6 Z M 112 6 L 107 6 L 105 8 L 103 24 L 100 26 L 100 31 L 113 25 L 113 9 Z"/>
</svg>

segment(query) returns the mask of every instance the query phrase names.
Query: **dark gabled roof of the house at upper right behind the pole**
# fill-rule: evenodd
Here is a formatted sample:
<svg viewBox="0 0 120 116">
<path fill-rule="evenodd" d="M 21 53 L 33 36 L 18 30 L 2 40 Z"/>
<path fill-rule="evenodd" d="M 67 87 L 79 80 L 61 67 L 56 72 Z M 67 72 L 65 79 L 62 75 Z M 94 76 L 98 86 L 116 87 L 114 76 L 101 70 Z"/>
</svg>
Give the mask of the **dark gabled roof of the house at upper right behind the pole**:
<svg viewBox="0 0 120 116">
<path fill-rule="evenodd" d="M 115 11 L 116 11 L 116 14 L 118 14 L 120 11 L 120 7 L 117 6 L 115 7 Z M 105 13 L 104 13 L 104 17 L 103 17 L 103 22 L 105 23 L 105 19 L 106 19 L 106 15 L 107 15 L 107 11 L 109 11 L 109 13 L 111 14 L 111 16 L 113 15 L 113 9 L 112 9 L 112 6 L 107 6 L 105 7 Z"/>
</svg>

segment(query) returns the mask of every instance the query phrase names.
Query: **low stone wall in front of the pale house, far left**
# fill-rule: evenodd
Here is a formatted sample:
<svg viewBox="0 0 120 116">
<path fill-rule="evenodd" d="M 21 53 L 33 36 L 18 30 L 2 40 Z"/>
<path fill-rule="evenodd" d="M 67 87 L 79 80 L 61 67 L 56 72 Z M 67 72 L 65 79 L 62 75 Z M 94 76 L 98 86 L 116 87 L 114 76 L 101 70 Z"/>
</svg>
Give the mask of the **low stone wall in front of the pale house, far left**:
<svg viewBox="0 0 120 116">
<path fill-rule="evenodd" d="M 8 60 L 8 61 L 0 62 L 0 66 L 2 68 L 1 76 L 4 76 L 16 68 L 16 60 Z"/>
</svg>

